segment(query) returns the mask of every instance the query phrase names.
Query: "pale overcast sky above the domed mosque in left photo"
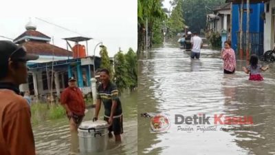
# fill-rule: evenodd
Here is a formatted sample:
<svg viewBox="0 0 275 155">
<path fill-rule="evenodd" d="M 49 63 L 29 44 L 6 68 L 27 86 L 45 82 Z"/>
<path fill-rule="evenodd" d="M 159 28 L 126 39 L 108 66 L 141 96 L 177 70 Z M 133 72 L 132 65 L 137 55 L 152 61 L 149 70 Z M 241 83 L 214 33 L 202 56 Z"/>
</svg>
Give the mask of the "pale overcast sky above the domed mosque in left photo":
<svg viewBox="0 0 275 155">
<path fill-rule="evenodd" d="M 107 46 L 109 56 L 119 48 L 124 52 L 129 48 L 137 50 L 136 0 L 9 0 L 5 1 L 5 7 L 1 6 L 0 36 L 15 39 L 25 32 L 30 17 L 36 30 L 54 37 L 54 45 L 61 48 L 66 48 L 63 38 L 79 36 L 35 18 L 38 17 L 94 38 L 89 41 L 89 55 L 94 54 L 95 45 L 100 41 Z M 96 49 L 96 55 L 99 50 Z"/>
</svg>

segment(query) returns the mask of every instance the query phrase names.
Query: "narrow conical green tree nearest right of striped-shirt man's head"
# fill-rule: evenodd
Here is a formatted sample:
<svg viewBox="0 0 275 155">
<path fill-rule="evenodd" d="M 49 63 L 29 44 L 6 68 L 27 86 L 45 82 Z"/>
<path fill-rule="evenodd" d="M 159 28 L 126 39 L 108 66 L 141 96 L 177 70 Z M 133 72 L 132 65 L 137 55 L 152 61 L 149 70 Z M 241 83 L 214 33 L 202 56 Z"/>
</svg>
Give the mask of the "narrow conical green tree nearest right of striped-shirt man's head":
<svg viewBox="0 0 275 155">
<path fill-rule="evenodd" d="M 124 54 L 119 51 L 114 57 L 115 74 L 114 81 L 120 93 L 129 86 L 129 79 L 127 78 L 127 65 Z"/>
</svg>

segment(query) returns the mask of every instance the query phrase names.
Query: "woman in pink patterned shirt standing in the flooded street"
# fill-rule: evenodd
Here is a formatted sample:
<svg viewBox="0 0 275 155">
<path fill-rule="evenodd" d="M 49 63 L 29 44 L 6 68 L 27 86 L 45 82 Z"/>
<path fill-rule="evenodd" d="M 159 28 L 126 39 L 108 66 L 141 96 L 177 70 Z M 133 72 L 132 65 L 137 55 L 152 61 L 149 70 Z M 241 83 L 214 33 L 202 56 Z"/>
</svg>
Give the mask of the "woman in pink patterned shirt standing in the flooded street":
<svg viewBox="0 0 275 155">
<path fill-rule="evenodd" d="M 231 41 L 224 42 L 221 58 L 223 59 L 223 73 L 234 74 L 236 70 L 236 56 L 234 50 L 231 48 Z"/>
</svg>

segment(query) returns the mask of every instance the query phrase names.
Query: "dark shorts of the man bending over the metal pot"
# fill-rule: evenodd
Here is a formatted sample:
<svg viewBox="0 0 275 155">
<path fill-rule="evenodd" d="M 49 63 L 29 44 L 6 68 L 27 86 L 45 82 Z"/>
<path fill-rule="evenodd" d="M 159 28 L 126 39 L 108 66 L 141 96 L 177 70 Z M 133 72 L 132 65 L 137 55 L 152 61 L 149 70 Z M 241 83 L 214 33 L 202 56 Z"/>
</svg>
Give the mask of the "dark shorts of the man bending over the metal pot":
<svg viewBox="0 0 275 155">
<path fill-rule="evenodd" d="M 109 118 L 104 116 L 104 121 L 109 121 Z M 115 135 L 123 134 L 123 118 L 122 115 L 118 118 L 113 118 L 113 124 L 109 127 L 109 132 Z"/>
</svg>

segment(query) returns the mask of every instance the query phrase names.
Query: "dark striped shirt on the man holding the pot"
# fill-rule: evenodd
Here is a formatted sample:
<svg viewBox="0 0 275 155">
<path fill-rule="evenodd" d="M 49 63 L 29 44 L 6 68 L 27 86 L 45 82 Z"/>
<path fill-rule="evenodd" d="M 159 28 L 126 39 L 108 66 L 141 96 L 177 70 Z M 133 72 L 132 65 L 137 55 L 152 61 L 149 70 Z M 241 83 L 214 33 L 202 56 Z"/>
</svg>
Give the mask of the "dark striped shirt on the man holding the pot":
<svg viewBox="0 0 275 155">
<path fill-rule="evenodd" d="M 120 98 L 118 96 L 118 87 L 109 82 L 107 87 L 103 87 L 102 84 L 98 86 L 98 94 L 97 99 L 100 99 L 104 105 L 104 115 L 109 117 L 111 115 L 111 107 L 112 101 L 117 101 L 118 105 L 115 109 L 115 114 L 113 114 L 113 118 L 122 115 L 122 106 L 120 102 Z"/>
</svg>

